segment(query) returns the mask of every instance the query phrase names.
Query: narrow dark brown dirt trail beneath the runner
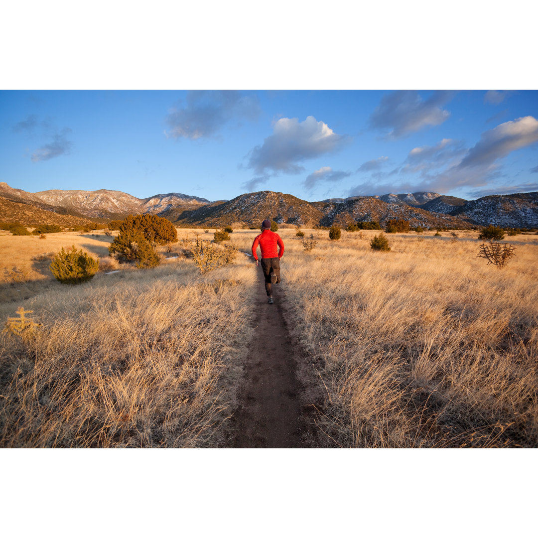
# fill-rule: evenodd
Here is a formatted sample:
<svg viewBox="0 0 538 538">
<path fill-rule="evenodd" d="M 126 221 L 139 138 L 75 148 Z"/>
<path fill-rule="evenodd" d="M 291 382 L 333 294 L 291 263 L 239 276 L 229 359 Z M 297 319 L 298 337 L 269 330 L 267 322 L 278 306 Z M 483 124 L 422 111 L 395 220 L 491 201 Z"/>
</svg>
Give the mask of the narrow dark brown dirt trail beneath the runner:
<svg viewBox="0 0 538 538">
<path fill-rule="evenodd" d="M 235 416 L 235 448 L 300 448 L 299 383 L 292 339 L 283 317 L 284 293 L 273 285 L 274 304 L 267 303 L 259 271 L 254 321 L 256 333 L 247 358 L 240 406 Z"/>
</svg>

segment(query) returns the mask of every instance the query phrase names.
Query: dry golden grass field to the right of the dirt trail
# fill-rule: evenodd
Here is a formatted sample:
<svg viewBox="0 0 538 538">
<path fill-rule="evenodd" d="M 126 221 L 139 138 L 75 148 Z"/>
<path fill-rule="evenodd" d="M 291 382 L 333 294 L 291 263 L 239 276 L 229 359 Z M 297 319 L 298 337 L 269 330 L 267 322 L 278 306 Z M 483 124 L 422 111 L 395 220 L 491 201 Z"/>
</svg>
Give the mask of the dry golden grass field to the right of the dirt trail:
<svg viewBox="0 0 538 538">
<path fill-rule="evenodd" d="M 517 256 L 499 270 L 476 232 L 389 234 L 386 253 L 364 233 L 321 232 L 310 253 L 282 234 L 328 445 L 538 446 L 538 237 L 509 238 Z"/>
</svg>

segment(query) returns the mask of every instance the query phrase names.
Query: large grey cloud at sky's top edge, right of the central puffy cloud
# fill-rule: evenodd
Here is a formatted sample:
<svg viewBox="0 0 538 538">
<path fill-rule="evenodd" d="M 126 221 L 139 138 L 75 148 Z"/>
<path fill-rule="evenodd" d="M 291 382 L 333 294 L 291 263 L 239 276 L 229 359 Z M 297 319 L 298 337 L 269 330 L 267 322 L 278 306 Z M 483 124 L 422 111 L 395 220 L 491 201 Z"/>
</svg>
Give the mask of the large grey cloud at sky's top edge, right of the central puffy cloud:
<svg viewBox="0 0 538 538">
<path fill-rule="evenodd" d="M 399 138 L 427 127 L 440 125 L 450 112 L 442 107 L 454 96 L 454 91 L 434 91 L 423 100 L 416 90 L 399 90 L 381 98 L 370 116 L 372 129 L 390 129 L 389 137 Z"/>
</svg>

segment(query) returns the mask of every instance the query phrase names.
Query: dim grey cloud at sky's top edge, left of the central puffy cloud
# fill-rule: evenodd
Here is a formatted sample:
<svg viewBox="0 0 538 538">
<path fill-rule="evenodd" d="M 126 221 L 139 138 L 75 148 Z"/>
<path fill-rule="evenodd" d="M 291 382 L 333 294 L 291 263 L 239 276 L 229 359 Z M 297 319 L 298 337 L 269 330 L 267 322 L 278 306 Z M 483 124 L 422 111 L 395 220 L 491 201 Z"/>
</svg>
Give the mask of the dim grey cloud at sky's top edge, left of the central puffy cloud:
<svg viewBox="0 0 538 538">
<path fill-rule="evenodd" d="M 260 113 L 256 95 L 242 95 L 236 90 L 192 90 L 186 107 L 172 109 L 166 116 L 170 130 L 166 136 L 195 140 L 211 137 L 227 123 L 254 120 Z"/>
</svg>

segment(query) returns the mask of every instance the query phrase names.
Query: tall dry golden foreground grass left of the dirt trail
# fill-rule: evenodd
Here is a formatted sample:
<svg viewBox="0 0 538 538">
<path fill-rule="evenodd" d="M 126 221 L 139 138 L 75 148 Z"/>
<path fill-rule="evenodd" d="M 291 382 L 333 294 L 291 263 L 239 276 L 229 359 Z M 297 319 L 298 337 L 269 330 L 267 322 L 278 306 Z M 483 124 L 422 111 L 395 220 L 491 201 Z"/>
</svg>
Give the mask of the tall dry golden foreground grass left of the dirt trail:
<svg viewBox="0 0 538 538">
<path fill-rule="evenodd" d="M 3 333 L 2 447 L 216 447 L 237 405 L 256 273 L 153 270 L 52 282 L 23 303 L 43 325 Z M 0 306 L 13 316 L 16 303 Z"/>
</svg>

